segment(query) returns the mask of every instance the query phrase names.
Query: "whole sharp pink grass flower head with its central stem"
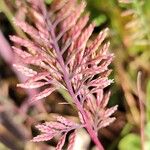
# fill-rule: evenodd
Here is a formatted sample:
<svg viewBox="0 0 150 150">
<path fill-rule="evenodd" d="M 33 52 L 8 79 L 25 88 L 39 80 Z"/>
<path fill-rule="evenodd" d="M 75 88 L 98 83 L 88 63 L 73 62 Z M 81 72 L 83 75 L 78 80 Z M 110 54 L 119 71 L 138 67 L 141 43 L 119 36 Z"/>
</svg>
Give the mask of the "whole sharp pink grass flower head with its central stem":
<svg viewBox="0 0 150 150">
<path fill-rule="evenodd" d="M 17 86 L 45 88 L 31 102 L 43 99 L 60 88 L 66 90 L 80 120 L 80 123 L 75 123 L 58 116 L 56 121 L 37 125 L 42 134 L 32 141 L 48 141 L 59 135 L 56 149 L 60 150 L 71 131 L 70 150 L 76 129 L 85 128 L 97 148 L 103 150 L 98 131 L 115 120 L 111 115 L 117 109 L 117 106 L 107 108 L 110 92 L 104 90 L 113 82 L 108 79 L 111 73 L 108 66 L 113 54 L 108 51 L 109 42 L 104 43 L 108 29 L 101 31 L 94 40 L 89 40 L 94 24 L 89 23 L 84 1 L 53 0 L 50 8 L 46 8 L 42 0 L 28 0 L 27 6 L 32 22 L 16 19 L 15 23 L 28 38 L 10 36 L 15 43 L 12 48 L 22 62 L 14 64 L 14 67 L 28 77 L 25 83 Z"/>
</svg>

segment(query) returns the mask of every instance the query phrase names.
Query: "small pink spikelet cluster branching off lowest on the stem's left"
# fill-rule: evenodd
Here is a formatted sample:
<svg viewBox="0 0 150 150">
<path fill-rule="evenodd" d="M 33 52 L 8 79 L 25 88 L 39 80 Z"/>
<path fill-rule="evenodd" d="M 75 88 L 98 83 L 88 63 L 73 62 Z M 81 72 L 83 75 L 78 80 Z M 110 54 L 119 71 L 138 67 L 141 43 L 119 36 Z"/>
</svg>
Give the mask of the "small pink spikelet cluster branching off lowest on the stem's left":
<svg viewBox="0 0 150 150">
<path fill-rule="evenodd" d="M 55 122 L 54 121 L 46 122 L 42 125 L 37 125 L 36 128 L 39 129 L 43 134 L 34 137 L 32 141 L 34 142 L 48 141 L 53 137 L 59 135 L 61 136 L 61 138 L 56 146 L 56 150 L 62 150 L 68 132 L 75 130 L 77 128 L 81 128 L 81 125 L 74 123 L 62 116 L 58 116 Z M 73 138 L 71 139 L 71 141 L 72 141 L 71 143 L 73 143 Z"/>
</svg>

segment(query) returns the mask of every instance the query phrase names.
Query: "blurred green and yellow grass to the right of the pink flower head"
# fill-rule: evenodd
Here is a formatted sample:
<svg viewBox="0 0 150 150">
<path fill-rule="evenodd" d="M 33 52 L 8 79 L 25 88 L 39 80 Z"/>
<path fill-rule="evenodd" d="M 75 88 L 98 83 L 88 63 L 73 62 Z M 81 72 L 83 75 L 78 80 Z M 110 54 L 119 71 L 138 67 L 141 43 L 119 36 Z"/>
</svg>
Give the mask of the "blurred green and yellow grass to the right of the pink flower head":
<svg viewBox="0 0 150 150">
<path fill-rule="evenodd" d="M 142 71 L 142 90 L 145 116 L 147 116 L 146 132 L 150 116 L 150 27 L 148 25 L 150 23 L 150 1 L 133 0 L 129 4 L 119 3 L 116 0 L 87 0 L 87 2 L 88 9 L 92 13 L 91 19 L 94 21 L 97 19 L 97 22 L 103 20 L 99 24 L 99 30 L 106 26 L 110 28 L 111 50 L 115 54 L 112 66 L 113 77 L 116 79 L 112 87 L 110 102 L 120 104 L 120 110 L 126 114 L 127 124 L 132 125 L 128 133 L 125 135 L 120 133 L 119 149 L 141 149 L 136 78 L 137 72 Z M 105 19 L 103 19 L 104 16 Z M 146 138 L 146 147 L 149 147 L 148 142 L 150 143 Z M 126 147 L 127 145 L 129 148 Z M 116 147 L 113 146 L 113 149 Z"/>
</svg>

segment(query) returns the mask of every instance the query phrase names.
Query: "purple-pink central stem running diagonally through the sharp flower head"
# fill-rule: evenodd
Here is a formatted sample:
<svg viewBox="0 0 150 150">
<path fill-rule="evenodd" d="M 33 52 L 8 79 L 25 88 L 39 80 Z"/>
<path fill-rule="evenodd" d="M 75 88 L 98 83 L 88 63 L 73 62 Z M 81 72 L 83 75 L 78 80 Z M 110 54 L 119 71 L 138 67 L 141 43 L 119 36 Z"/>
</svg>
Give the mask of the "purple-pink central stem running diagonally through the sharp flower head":
<svg viewBox="0 0 150 150">
<path fill-rule="evenodd" d="M 70 82 L 70 79 L 69 79 L 69 74 L 67 72 L 67 69 L 66 69 L 66 65 L 64 63 L 64 59 L 61 55 L 61 51 L 60 51 L 60 48 L 58 46 L 58 43 L 56 41 L 56 36 L 55 36 L 55 31 L 54 31 L 54 28 L 51 24 L 51 22 L 49 20 L 47 20 L 48 22 L 48 26 L 50 27 L 49 31 L 51 33 L 51 37 L 52 37 L 52 40 L 53 40 L 53 47 L 57 53 L 57 56 L 58 56 L 58 61 L 62 67 L 62 70 L 63 70 L 63 75 L 64 75 L 64 81 L 66 83 L 66 86 L 67 86 L 67 89 L 68 89 L 68 92 L 70 93 L 72 99 L 74 100 L 78 110 L 80 111 L 80 113 L 82 114 L 83 116 L 83 119 L 85 121 L 85 128 L 87 129 L 89 135 L 91 136 L 91 139 L 93 140 L 93 142 L 96 144 L 97 148 L 99 150 L 104 150 L 102 144 L 100 143 L 97 135 L 96 135 L 96 132 L 93 130 L 92 126 L 91 126 L 91 123 L 87 117 L 87 114 L 85 113 L 82 105 L 80 104 L 78 98 L 76 97 L 75 93 L 73 92 L 73 88 L 72 88 L 72 85 L 71 85 L 71 82 Z"/>
</svg>

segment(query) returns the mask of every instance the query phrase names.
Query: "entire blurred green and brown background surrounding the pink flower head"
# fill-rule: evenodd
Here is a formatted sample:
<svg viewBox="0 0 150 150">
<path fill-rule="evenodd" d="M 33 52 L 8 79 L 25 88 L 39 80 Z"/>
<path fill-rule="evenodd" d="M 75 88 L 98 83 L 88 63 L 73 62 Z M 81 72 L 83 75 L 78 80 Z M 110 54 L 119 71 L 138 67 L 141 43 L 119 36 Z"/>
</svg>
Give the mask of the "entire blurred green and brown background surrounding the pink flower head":
<svg viewBox="0 0 150 150">
<path fill-rule="evenodd" d="M 16 87 L 25 77 L 12 66 L 17 58 L 9 35 L 24 36 L 13 23 L 14 17 L 25 18 L 24 1 L 0 0 L 0 150 L 53 149 L 57 139 L 30 142 L 38 134 L 34 125 L 49 121 L 56 114 L 77 120 L 72 107 L 58 104 L 68 98 L 63 91 L 28 105 L 27 101 L 38 91 Z M 47 7 L 51 2 L 45 0 Z M 95 35 L 109 27 L 110 51 L 115 55 L 110 76 L 115 82 L 109 87 L 109 106 L 119 105 L 117 119 L 100 130 L 99 138 L 106 150 L 141 150 L 141 145 L 150 150 L 150 0 L 87 0 L 87 11 L 96 24 Z M 139 71 L 141 76 L 137 79 Z M 94 149 L 84 130 L 78 133 L 77 145 L 81 150 Z"/>
</svg>

